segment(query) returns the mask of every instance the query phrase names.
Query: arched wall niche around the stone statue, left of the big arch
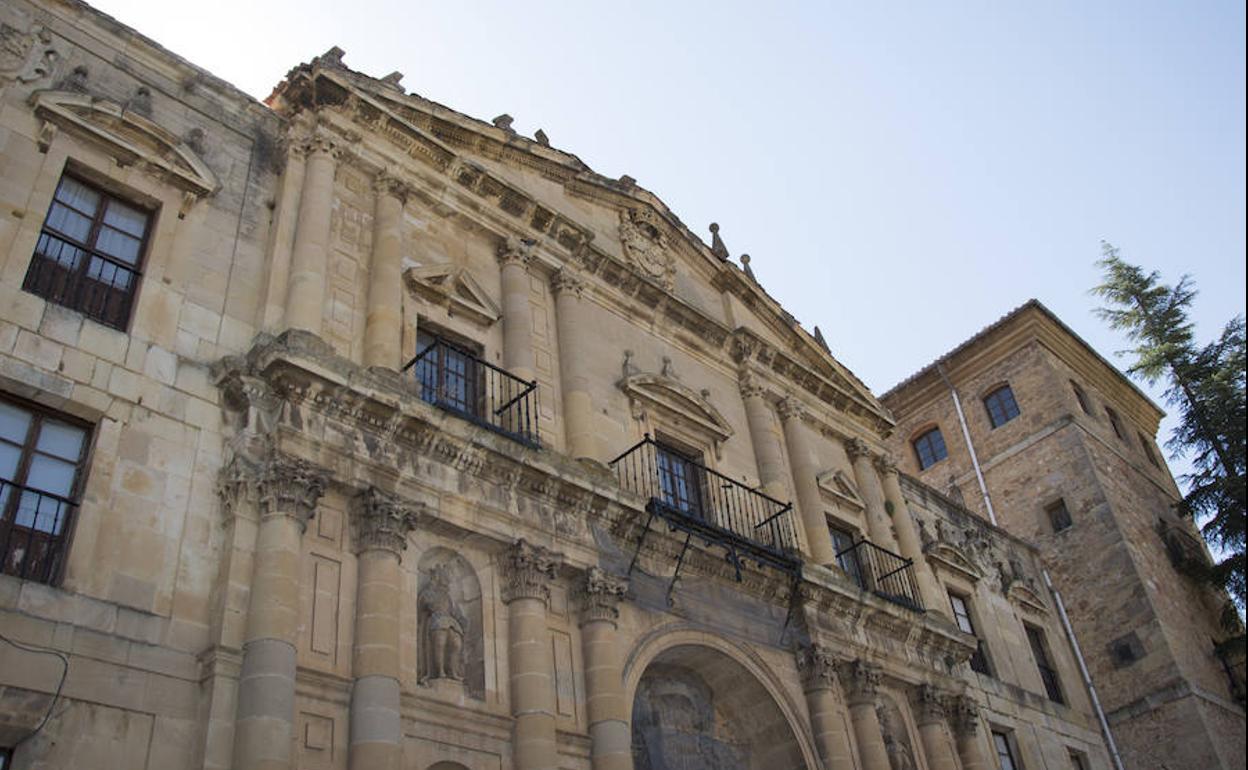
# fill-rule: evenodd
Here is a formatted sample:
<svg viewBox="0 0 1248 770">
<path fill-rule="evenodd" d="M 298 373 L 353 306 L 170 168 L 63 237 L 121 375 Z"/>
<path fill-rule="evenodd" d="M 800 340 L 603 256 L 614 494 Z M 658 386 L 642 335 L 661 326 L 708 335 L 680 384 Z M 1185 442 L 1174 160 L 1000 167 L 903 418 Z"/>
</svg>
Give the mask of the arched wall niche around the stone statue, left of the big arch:
<svg viewBox="0 0 1248 770">
<path fill-rule="evenodd" d="M 439 666 L 434 665 L 431 644 L 433 626 L 452 628 L 462 634 L 459 670 L 464 691 L 484 700 L 480 580 L 463 555 L 442 547 L 426 550 L 417 565 L 417 671 L 423 685 L 439 684 L 436 676 Z"/>
</svg>

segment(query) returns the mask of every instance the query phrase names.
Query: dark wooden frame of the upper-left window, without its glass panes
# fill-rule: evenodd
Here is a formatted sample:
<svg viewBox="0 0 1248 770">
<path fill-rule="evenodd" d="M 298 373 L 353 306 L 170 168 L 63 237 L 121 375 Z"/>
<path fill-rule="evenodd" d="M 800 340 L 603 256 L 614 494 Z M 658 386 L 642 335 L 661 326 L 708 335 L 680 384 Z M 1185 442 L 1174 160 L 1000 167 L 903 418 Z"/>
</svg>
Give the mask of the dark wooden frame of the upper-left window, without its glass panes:
<svg viewBox="0 0 1248 770">
<path fill-rule="evenodd" d="M 72 180 L 100 196 L 100 205 L 95 213 L 91 215 L 91 227 L 87 232 L 86 241 L 79 241 L 69 233 L 61 232 L 49 225 L 49 218 L 57 205 L 64 206 L 80 216 L 87 216 L 86 212 L 80 211 L 57 198 L 57 193 L 61 190 L 61 185 L 65 183 L 65 180 Z M 104 217 L 107 215 L 109 207 L 114 202 L 126 206 L 127 208 L 140 211 L 145 216 L 144 235 L 139 238 L 139 253 L 135 256 L 134 265 L 127 265 L 124 260 L 119 260 L 99 248 L 100 230 L 105 225 Z M 22 280 L 22 290 L 37 297 L 42 297 L 45 301 L 54 305 L 82 313 L 87 318 L 110 328 L 122 332 L 127 331 L 135 314 L 135 306 L 139 305 L 139 287 L 144 280 L 144 267 L 147 262 L 147 251 L 155 230 L 155 218 L 156 210 L 139 202 L 134 196 L 119 195 L 117 192 L 89 180 L 84 175 L 66 170 L 61 173 L 61 178 L 56 181 L 52 200 L 47 203 L 47 211 L 44 213 L 44 221 L 39 228 L 39 241 L 36 242 L 35 252 L 31 255 L 30 262 L 26 267 L 26 276 Z M 125 235 L 129 236 L 131 233 Z M 65 270 L 64 265 L 61 265 L 56 257 L 42 253 L 40 246 L 44 243 L 45 237 L 60 241 L 82 252 L 79 261 L 80 263 L 72 270 Z M 129 273 L 130 286 L 125 290 L 119 290 L 112 285 L 107 285 L 107 288 L 104 288 L 106 286 L 104 281 L 91 278 L 87 275 L 95 260 L 100 260 L 105 265 L 111 265 L 115 271 L 115 277 L 117 271 L 125 271 Z M 56 282 L 56 285 L 51 283 L 51 281 L 56 281 L 56 276 L 52 276 L 50 281 L 49 271 L 62 271 L 62 277 Z M 124 302 L 125 311 L 116 313 L 96 311 L 92 307 L 94 303 L 86 300 L 86 292 L 92 287 L 95 287 L 96 291 L 102 290 L 106 292 L 105 307 L 109 306 L 107 292 L 117 292 L 117 295 L 122 297 L 121 301 Z"/>
</svg>

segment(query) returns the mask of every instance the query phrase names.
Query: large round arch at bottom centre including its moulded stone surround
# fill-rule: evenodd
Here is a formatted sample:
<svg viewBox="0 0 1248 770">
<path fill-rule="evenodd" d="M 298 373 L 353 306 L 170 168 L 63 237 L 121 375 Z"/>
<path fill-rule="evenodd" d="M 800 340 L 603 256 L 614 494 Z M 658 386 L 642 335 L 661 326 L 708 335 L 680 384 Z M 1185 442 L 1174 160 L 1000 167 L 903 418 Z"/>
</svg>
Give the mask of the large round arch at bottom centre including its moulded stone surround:
<svg viewBox="0 0 1248 770">
<path fill-rule="evenodd" d="M 644 639 L 625 663 L 635 770 L 819 768 L 801 711 L 749 649 L 688 628 Z"/>
</svg>

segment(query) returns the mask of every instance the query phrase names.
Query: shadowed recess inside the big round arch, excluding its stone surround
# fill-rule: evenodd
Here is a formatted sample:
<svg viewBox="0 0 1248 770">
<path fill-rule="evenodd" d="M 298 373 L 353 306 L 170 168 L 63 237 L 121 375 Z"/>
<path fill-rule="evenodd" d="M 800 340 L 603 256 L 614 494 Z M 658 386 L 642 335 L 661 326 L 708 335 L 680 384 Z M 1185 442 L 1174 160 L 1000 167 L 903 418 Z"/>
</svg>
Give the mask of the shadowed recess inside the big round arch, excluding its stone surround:
<svg viewBox="0 0 1248 770">
<path fill-rule="evenodd" d="M 723 651 L 673 646 L 633 698 L 634 770 L 806 770 L 792 726 L 765 686 Z"/>
</svg>

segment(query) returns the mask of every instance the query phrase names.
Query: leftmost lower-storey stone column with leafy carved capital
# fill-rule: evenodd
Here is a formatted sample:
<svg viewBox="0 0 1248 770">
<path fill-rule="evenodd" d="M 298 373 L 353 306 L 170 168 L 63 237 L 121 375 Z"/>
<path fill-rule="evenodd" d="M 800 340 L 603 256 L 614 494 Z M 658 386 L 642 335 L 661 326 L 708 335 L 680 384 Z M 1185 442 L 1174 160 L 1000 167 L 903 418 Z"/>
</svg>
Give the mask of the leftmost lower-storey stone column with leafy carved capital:
<svg viewBox="0 0 1248 770">
<path fill-rule="evenodd" d="M 313 465 L 292 458 L 273 458 L 261 470 L 261 518 L 238 676 L 235 770 L 291 766 L 301 539 L 326 483 Z"/>
</svg>

